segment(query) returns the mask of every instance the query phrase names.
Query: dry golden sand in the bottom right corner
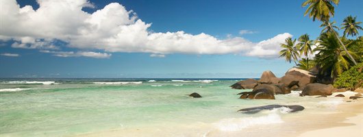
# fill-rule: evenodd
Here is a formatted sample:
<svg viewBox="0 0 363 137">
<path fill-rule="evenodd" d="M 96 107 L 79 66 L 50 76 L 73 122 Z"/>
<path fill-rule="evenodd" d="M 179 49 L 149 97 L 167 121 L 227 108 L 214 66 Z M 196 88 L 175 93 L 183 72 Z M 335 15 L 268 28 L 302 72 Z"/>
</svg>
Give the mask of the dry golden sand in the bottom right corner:
<svg viewBox="0 0 363 137">
<path fill-rule="evenodd" d="M 357 93 L 357 92 L 354 92 Z M 340 94 L 335 92 L 331 96 Z M 343 94 L 344 95 L 344 94 Z M 363 136 L 363 99 L 351 100 L 346 96 L 344 103 L 339 104 L 336 108 L 338 113 L 329 114 L 325 119 L 330 119 L 329 123 L 319 123 L 319 119 L 311 119 L 314 122 L 309 129 L 303 129 L 299 133 L 299 137 L 310 136 Z M 347 102 L 351 101 L 351 102 Z M 315 124 L 314 124 L 315 123 Z"/>
</svg>

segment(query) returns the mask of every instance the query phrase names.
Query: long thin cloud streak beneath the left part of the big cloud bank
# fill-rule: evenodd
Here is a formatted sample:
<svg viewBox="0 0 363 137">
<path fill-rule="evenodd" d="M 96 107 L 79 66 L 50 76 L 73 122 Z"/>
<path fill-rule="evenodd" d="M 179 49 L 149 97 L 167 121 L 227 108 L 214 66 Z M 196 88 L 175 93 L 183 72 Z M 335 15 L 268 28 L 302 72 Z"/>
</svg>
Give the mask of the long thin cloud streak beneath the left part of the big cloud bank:
<svg viewBox="0 0 363 137">
<path fill-rule="evenodd" d="M 110 58 L 112 54 L 110 53 L 100 53 L 100 52 L 92 52 L 92 51 L 47 51 L 40 50 L 42 53 L 52 53 L 57 57 L 90 57 L 90 58 Z"/>
</svg>

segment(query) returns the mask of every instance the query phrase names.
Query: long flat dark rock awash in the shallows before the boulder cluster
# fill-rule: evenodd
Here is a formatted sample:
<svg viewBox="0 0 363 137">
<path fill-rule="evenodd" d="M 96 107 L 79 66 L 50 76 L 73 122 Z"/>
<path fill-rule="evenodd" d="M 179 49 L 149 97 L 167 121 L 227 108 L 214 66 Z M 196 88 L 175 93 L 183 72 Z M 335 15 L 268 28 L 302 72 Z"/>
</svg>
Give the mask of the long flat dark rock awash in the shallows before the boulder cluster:
<svg viewBox="0 0 363 137">
<path fill-rule="evenodd" d="M 290 112 L 297 112 L 297 111 L 301 111 L 301 110 L 305 109 L 301 105 L 263 105 L 260 107 L 244 108 L 244 109 L 238 110 L 238 111 L 246 113 L 246 114 L 255 114 L 262 110 L 273 110 L 274 108 L 282 108 L 282 107 L 289 108 L 291 110 Z"/>
</svg>

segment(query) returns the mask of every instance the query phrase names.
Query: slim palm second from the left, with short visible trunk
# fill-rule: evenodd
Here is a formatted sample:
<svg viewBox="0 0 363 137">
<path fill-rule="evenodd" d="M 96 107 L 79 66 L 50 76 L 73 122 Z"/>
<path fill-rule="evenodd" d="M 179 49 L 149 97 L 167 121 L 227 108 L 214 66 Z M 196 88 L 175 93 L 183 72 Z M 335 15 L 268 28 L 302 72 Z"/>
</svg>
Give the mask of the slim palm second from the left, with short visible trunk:
<svg viewBox="0 0 363 137">
<path fill-rule="evenodd" d="M 312 40 L 310 40 L 308 34 L 303 34 L 299 38 L 299 43 L 297 43 L 297 49 L 300 51 L 300 55 L 305 55 L 306 65 L 309 68 L 309 55 L 312 54 Z"/>
</svg>

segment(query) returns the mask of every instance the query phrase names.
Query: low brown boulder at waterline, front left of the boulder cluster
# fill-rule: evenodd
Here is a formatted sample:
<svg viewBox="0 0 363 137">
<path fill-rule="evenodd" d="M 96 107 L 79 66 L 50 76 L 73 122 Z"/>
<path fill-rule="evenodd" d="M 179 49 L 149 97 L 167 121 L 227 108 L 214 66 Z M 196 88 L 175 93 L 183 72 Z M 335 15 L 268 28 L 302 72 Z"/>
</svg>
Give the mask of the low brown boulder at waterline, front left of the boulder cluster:
<svg viewBox="0 0 363 137">
<path fill-rule="evenodd" d="M 275 99 L 275 95 L 273 95 L 273 92 L 263 88 L 251 92 L 242 92 L 240 99 Z"/>
</svg>

